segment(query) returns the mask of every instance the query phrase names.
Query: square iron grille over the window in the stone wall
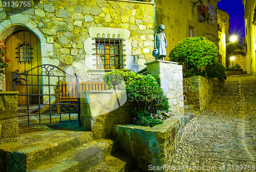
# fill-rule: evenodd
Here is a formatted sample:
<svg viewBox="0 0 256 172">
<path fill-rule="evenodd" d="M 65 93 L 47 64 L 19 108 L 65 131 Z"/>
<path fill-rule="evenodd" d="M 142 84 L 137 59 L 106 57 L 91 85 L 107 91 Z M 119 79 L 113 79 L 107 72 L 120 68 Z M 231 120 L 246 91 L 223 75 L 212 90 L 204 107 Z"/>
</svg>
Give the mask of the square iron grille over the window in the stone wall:
<svg viewBox="0 0 256 172">
<path fill-rule="evenodd" d="M 94 50 L 96 50 L 96 53 L 93 54 L 96 56 L 94 66 L 97 69 L 124 69 L 124 39 L 121 39 L 120 35 L 115 38 L 115 34 L 113 34 L 111 38 L 108 34 L 108 37 L 105 38 L 105 34 L 102 34 L 100 38 L 98 33 L 97 37 L 93 39 L 95 40 Z"/>
</svg>

